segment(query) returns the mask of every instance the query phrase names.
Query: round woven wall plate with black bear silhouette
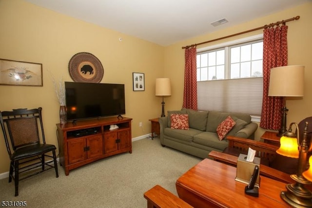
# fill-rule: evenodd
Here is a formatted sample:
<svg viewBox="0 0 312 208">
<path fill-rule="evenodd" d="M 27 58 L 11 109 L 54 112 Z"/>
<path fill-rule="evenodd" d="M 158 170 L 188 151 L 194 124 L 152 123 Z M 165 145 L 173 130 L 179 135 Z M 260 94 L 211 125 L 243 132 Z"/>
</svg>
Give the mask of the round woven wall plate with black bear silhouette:
<svg viewBox="0 0 312 208">
<path fill-rule="evenodd" d="M 75 54 L 68 63 L 70 77 L 80 83 L 100 83 L 104 69 L 102 63 L 91 53 Z"/>
</svg>

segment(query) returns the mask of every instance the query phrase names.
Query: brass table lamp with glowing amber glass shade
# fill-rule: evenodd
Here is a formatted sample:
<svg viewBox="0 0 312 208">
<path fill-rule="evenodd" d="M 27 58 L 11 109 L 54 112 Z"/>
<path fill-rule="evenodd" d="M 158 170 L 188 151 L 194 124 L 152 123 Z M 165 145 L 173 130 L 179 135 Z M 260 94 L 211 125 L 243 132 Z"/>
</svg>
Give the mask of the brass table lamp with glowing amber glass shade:
<svg viewBox="0 0 312 208">
<path fill-rule="evenodd" d="M 296 125 L 297 133 L 292 132 L 292 125 Z M 280 196 L 292 207 L 312 207 L 312 192 L 305 186 L 312 182 L 312 158 L 310 157 L 310 168 L 306 170 L 307 156 L 312 150 L 312 143 L 308 141 L 308 122 L 304 127 L 303 138 L 300 141 L 299 128 L 296 123 L 292 123 L 289 130 L 280 139 L 280 147 L 276 152 L 280 155 L 298 158 L 298 169 L 296 175 L 291 175 L 295 184 L 287 184 L 286 191 L 282 191 Z M 309 144 L 310 143 L 310 144 Z M 298 150 L 299 147 L 299 150 Z"/>
</svg>

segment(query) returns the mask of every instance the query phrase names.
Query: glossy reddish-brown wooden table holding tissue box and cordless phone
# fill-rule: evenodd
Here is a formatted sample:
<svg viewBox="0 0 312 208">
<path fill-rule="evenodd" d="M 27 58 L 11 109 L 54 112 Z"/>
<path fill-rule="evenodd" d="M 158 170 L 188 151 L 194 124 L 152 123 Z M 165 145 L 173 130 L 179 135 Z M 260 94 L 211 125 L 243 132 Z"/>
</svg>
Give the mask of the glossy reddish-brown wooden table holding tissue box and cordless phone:
<svg viewBox="0 0 312 208">
<path fill-rule="evenodd" d="M 178 196 L 193 207 L 285 208 L 284 183 L 260 176 L 259 197 L 245 194 L 246 184 L 235 181 L 236 167 L 204 159 L 176 181 Z"/>
</svg>

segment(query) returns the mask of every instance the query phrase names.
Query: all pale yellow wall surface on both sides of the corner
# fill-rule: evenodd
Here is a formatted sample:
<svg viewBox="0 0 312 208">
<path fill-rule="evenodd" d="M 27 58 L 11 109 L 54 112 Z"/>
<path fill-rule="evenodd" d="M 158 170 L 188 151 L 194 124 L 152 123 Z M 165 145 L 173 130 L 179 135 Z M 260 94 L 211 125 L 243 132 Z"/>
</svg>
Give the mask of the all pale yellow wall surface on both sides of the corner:
<svg viewBox="0 0 312 208">
<path fill-rule="evenodd" d="M 297 15 L 299 21 L 288 22 L 289 64 L 302 64 L 305 70 L 305 96 L 302 100 L 288 100 L 288 123 L 299 122 L 312 115 L 312 3 L 270 16 L 246 21 L 229 29 L 179 42 L 168 47 L 142 41 L 94 24 L 35 6 L 22 0 L 0 0 L 0 58 L 43 64 L 43 87 L 0 85 L 0 110 L 27 107 L 43 108 L 43 122 L 48 143 L 57 145 L 56 123 L 59 123 L 59 104 L 47 70 L 56 78 L 62 75 L 72 81 L 68 62 L 78 52 L 90 52 L 103 64 L 102 83 L 124 83 L 126 116 L 133 118 L 132 137 L 150 132 L 148 119 L 161 112 L 161 98 L 155 97 L 155 79 L 168 77 L 172 81 L 172 96 L 165 98 L 166 111 L 179 109 L 183 99 L 184 50 L 182 46 L 249 30 Z M 226 42 L 261 30 L 208 45 Z M 123 41 L 119 42 L 119 38 Z M 132 90 L 132 72 L 145 73 L 145 91 Z M 143 122 L 143 127 L 138 126 Z M 263 129 L 258 129 L 259 137 Z M 8 171 L 9 160 L 0 135 L 0 173 Z"/>
</svg>

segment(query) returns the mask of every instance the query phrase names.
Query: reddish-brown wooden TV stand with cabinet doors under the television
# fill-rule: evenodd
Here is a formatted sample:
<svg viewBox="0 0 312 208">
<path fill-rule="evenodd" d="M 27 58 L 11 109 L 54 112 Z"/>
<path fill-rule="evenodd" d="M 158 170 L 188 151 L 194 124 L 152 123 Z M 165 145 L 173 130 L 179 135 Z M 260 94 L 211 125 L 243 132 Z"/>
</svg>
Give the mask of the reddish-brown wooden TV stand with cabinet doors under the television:
<svg viewBox="0 0 312 208">
<path fill-rule="evenodd" d="M 69 170 L 105 157 L 127 151 L 132 153 L 131 121 L 126 117 L 105 117 L 57 124 L 59 162 L 65 175 Z M 109 130 L 110 125 L 119 128 Z"/>
</svg>

